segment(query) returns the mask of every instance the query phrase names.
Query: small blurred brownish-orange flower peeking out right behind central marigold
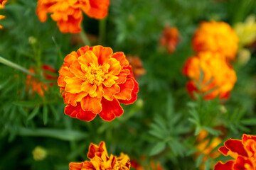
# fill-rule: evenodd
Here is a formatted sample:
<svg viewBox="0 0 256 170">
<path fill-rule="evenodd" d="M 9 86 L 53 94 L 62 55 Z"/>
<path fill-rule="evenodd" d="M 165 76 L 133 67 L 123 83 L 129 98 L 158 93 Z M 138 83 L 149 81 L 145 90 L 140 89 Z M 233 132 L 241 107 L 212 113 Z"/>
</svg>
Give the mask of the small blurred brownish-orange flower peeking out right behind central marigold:
<svg viewBox="0 0 256 170">
<path fill-rule="evenodd" d="M 140 76 L 146 74 L 146 70 L 143 68 L 142 60 L 139 57 L 127 56 L 129 64 L 132 66 L 132 72 L 134 73 L 135 79 L 139 79 Z"/>
</svg>

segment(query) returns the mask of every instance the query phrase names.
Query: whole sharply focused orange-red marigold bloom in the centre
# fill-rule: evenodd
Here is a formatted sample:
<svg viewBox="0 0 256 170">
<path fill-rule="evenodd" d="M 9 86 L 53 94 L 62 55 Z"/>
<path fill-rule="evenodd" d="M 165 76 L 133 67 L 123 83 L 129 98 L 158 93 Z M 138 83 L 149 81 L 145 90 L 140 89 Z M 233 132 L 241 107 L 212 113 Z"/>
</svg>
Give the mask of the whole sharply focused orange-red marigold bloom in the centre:
<svg viewBox="0 0 256 170">
<path fill-rule="evenodd" d="M 119 103 L 137 100 L 139 84 L 123 52 L 101 45 L 81 47 L 64 59 L 58 86 L 63 92 L 65 114 L 90 121 L 97 114 L 111 121 L 124 112 Z"/>
</svg>

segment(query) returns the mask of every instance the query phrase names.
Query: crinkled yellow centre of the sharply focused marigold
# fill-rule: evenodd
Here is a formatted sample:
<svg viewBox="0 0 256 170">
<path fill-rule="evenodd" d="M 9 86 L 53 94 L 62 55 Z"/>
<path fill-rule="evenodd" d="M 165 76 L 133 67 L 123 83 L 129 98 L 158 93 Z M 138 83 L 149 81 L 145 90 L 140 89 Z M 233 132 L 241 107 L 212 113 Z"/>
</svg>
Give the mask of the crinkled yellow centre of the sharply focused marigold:
<svg viewBox="0 0 256 170">
<path fill-rule="evenodd" d="M 97 66 L 94 63 L 90 63 L 90 66 L 85 68 L 85 81 L 89 82 L 90 84 L 100 86 L 100 84 L 102 84 L 107 78 L 105 74 L 107 73 L 109 67 L 109 64 Z"/>
</svg>

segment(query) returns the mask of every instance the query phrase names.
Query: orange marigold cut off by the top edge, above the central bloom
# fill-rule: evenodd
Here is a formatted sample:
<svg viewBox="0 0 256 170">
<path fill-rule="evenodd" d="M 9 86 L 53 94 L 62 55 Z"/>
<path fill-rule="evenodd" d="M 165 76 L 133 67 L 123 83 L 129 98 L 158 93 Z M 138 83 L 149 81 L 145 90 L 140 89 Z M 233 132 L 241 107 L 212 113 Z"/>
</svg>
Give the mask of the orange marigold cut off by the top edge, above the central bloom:
<svg viewBox="0 0 256 170">
<path fill-rule="evenodd" d="M 110 0 L 38 0 L 36 13 L 41 22 L 47 19 L 47 13 L 57 21 L 62 33 L 80 33 L 82 11 L 91 18 L 103 19 L 107 16 Z"/>
</svg>

